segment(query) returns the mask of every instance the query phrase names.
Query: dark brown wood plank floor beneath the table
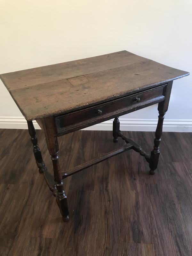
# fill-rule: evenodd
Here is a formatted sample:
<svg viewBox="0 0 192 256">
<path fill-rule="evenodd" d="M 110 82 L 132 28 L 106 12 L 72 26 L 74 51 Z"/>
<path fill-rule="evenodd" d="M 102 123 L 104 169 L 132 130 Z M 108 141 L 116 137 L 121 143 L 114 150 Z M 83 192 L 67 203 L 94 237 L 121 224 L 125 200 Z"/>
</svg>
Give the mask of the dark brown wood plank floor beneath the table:
<svg viewBox="0 0 192 256">
<path fill-rule="evenodd" d="M 153 132 L 124 132 L 150 152 Z M 52 163 L 37 131 L 44 161 Z M 62 170 L 123 145 L 112 132 L 59 138 Z M 70 220 L 38 173 L 27 130 L 0 130 L 0 255 L 192 255 L 192 133 L 164 132 L 156 175 L 134 151 L 65 180 Z M 52 171 L 51 171 L 52 172 Z"/>
</svg>

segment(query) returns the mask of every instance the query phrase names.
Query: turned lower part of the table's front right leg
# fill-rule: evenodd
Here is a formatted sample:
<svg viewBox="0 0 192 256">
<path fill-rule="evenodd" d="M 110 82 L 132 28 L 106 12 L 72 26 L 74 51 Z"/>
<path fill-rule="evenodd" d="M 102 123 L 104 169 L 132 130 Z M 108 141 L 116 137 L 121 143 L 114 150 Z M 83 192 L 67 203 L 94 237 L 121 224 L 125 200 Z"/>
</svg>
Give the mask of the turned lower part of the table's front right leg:
<svg viewBox="0 0 192 256">
<path fill-rule="evenodd" d="M 155 139 L 154 139 L 154 148 L 151 151 L 151 157 L 150 157 L 150 163 L 149 163 L 149 167 L 150 167 L 149 173 L 151 175 L 155 174 L 154 171 L 156 170 L 157 164 L 159 161 L 159 155 L 160 155 L 159 145 L 161 142 L 161 135 L 163 131 L 164 114 L 165 113 L 159 112 L 159 116 L 158 116 L 158 123 L 157 123 L 156 132 L 155 132 Z"/>
</svg>

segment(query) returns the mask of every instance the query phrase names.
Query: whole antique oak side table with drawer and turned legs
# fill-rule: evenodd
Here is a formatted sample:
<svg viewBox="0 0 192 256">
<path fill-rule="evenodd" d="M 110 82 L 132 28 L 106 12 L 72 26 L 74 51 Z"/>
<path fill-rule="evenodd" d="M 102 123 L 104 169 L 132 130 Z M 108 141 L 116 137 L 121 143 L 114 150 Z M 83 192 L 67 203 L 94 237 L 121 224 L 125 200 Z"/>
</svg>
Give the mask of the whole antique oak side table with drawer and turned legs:
<svg viewBox="0 0 192 256">
<path fill-rule="evenodd" d="M 63 187 L 63 179 L 68 176 L 130 149 L 145 157 L 150 174 L 154 174 L 173 80 L 188 75 L 188 72 L 127 51 L 0 75 L 27 120 L 37 167 L 56 196 L 64 221 L 69 219 L 67 196 Z M 136 142 L 123 135 L 119 129 L 118 116 L 156 103 L 158 124 L 154 148 L 148 155 Z M 111 118 L 115 118 L 114 142 L 121 137 L 125 145 L 71 170 L 61 171 L 57 137 Z M 44 130 L 54 177 L 45 167 L 33 120 Z"/>
</svg>

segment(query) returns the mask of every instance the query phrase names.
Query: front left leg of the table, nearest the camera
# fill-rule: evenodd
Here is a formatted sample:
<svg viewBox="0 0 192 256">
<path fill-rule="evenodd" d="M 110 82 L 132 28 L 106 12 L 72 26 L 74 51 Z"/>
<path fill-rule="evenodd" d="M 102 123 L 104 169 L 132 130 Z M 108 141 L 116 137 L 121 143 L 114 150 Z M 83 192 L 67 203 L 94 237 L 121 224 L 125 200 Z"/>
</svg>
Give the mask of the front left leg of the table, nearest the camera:
<svg viewBox="0 0 192 256">
<path fill-rule="evenodd" d="M 44 118 L 44 132 L 45 138 L 47 142 L 47 148 L 51 155 L 52 164 L 53 164 L 53 172 L 54 172 L 54 180 L 56 182 L 57 194 L 56 201 L 59 206 L 61 215 L 63 217 L 63 221 L 69 220 L 69 211 L 68 211 L 68 203 L 67 196 L 65 195 L 62 175 L 60 171 L 59 164 L 59 144 L 56 136 L 55 122 L 53 117 Z"/>
</svg>

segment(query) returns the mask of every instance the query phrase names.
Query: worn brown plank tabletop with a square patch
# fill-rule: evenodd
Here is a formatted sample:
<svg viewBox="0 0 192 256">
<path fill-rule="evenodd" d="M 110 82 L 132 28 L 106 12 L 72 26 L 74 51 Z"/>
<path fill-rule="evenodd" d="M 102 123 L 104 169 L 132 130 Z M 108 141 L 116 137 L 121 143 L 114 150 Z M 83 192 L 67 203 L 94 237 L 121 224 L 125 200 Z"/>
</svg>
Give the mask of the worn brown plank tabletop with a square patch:
<svg viewBox="0 0 192 256">
<path fill-rule="evenodd" d="M 121 51 L 0 75 L 27 120 L 57 115 L 188 76 Z"/>
</svg>

